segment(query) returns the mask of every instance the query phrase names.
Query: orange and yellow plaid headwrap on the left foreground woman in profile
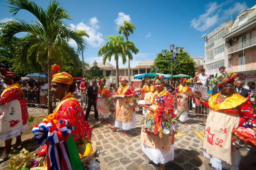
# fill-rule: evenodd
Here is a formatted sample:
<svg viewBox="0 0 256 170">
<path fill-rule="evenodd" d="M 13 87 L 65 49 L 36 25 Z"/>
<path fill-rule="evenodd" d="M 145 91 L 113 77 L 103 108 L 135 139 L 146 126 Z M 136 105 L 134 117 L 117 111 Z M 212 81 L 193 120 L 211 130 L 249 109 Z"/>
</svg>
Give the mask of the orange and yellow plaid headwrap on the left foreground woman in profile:
<svg viewBox="0 0 256 170">
<path fill-rule="evenodd" d="M 52 65 L 52 82 L 58 82 L 66 85 L 73 84 L 73 77 L 66 72 L 60 73 L 60 66 Z"/>
</svg>

